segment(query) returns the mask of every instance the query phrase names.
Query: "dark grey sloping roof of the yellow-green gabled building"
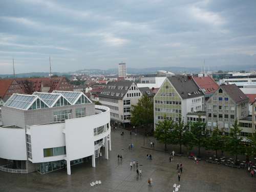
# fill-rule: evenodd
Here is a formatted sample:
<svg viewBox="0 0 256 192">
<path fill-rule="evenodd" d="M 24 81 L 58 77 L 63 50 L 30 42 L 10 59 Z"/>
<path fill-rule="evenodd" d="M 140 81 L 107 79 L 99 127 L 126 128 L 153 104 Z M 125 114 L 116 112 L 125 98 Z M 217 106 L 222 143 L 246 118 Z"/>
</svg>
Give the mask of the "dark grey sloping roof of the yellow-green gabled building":
<svg viewBox="0 0 256 192">
<path fill-rule="evenodd" d="M 182 99 L 199 97 L 204 95 L 201 89 L 197 86 L 195 81 L 190 76 L 177 75 L 167 78 L 173 84 L 174 88 L 180 94 Z"/>
</svg>

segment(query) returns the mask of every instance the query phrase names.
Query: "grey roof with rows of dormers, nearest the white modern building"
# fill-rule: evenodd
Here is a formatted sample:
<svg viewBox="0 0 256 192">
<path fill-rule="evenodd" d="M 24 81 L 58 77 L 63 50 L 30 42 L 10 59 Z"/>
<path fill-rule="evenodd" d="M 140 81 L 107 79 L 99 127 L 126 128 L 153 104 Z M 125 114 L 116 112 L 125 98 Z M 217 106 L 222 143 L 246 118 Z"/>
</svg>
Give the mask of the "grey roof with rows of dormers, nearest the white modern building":
<svg viewBox="0 0 256 192">
<path fill-rule="evenodd" d="M 122 99 L 132 84 L 133 81 L 109 81 L 99 94 L 99 97 Z"/>
</svg>

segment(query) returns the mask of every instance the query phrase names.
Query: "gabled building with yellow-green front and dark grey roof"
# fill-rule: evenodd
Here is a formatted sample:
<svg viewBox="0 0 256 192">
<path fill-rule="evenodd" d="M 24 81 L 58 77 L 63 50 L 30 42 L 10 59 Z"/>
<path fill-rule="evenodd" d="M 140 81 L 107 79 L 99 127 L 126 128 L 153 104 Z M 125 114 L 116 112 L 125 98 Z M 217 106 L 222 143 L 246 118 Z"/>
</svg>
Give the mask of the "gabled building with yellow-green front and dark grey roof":
<svg viewBox="0 0 256 192">
<path fill-rule="evenodd" d="M 191 76 L 165 78 L 154 96 L 154 126 L 164 119 L 177 121 L 179 115 L 187 122 L 187 113 L 204 109 L 204 94 Z"/>
</svg>

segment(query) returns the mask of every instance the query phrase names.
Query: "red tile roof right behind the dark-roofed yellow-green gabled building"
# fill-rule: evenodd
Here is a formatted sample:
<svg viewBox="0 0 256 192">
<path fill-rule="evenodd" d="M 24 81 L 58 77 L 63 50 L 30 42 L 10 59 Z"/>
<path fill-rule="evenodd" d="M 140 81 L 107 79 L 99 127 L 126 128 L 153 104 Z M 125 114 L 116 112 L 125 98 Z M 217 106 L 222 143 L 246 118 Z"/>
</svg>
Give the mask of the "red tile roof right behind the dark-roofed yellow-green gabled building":
<svg viewBox="0 0 256 192">
<path fill-rule="evenodd" d="M 219 89 L 219 85 L 211 77 L 193 77 L 193 80 L 203 90 L 204 94 L 211 94 Z"/>
</svg>

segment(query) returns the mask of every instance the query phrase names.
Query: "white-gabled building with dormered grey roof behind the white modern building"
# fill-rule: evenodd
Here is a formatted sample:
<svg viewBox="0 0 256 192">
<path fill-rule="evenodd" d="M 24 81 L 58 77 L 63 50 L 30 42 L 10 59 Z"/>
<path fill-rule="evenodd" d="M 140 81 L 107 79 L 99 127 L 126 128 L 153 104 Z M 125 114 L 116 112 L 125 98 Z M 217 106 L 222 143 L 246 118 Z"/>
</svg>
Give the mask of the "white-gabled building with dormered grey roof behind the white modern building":
<svg viewBox="0 0 256 192">
<path fill-rule="evenodd" d="M 99 102 L 110 108 L 112 123 L 125 126 L 130 123 L 131 106 L 142 97 L 141 91 L 132 81 L 110 81 L 99 94 Z"/>
</svg>

